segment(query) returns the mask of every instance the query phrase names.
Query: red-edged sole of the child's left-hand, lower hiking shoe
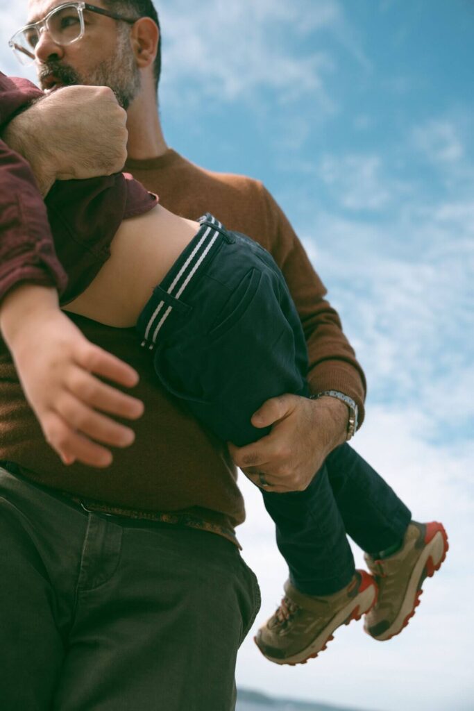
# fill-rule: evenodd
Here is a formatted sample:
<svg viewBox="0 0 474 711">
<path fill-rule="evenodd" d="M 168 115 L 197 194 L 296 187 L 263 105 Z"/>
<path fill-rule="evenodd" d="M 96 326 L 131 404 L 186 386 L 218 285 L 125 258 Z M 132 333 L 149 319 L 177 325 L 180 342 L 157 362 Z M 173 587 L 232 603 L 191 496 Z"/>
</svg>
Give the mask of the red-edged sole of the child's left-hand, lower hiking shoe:
<svg viewBox="0 0 474 711">
<path fill-rule="evenodd" d="M 257 647 L 262 652 L 263 656 L 275 664 L 288 664 L 290 666 L 295 666 L 296 664 L 306 664 L 308 659 L 316 658 L 320 652 L 325 650 L 328 643 L 334 639 L 333 632 L 335 632 L 338 627 L 343 624 L 349 624 L 352 620 L 360 620 L 362 615 L 370 612 L 372 607 L 377 602 L 377 585 L 375 584 L 375 580 L 372 575 L 365 572 L 365 570 L 359 570 L 358 572 L 360 573 L 361 581 L 357 597 L 355 600 L 351 600 L 350 604 L 346 605 L 335 617 L 333 617 L 330 624 L 325 627 L 321 634 L 319 634 L 316 639 L 311 642 L 311 644 L 298 652 L 298 654 L 286 657 L 285 659 L 276 659 L 267 655 L 262 648 L 259 647 L 257 638 L 254 637 L 254 642 L 257 644 Z M 355 602 L 357 604 L 354 607 Z"/>
</svg>

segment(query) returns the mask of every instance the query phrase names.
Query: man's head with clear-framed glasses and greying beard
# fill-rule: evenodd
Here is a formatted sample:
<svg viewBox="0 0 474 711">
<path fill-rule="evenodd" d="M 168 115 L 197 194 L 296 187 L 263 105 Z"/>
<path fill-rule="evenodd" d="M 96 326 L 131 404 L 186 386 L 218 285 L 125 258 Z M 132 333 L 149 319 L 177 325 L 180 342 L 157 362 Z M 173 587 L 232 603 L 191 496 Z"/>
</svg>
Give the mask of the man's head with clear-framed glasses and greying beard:
<svg viewBox="0 0 474 711">
<path fill-rule="evenodd" d="M 28 23 L 43 20 L 64 4 L 65 0 L 31 0 Z M 48 26 L 36 39 L 34 53 L 43 89 L 72 84 L 106 85 L 124 108 L 139 94 L 142 80 L 156 89 L 161 70 L 161 36 L 151 0 L 91 0 L 90 4 L 72 5 L 78 7 L 65 9 L 61 23 L 65 27 L 70 23 L 78 26 L 77 12 L 81 14 L 84 33 L 80 39 L 60 43 Z M 75 17 L 70 16 L 71 12 Z M 49 26 L 53 28 L 53 22 Z"/>
</svg>

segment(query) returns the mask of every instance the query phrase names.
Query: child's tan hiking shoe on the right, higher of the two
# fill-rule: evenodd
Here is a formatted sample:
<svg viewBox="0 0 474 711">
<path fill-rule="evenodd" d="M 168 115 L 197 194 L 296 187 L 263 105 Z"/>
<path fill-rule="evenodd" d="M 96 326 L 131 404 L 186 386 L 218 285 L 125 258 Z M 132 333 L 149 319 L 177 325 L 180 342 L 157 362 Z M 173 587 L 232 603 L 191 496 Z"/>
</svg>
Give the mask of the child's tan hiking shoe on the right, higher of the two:
<svg viewBox="0 0 474 711">
<path fill-rule="evenodd" d="M 447 550 L 448 536 L 441 523 L 411 521 L 396 553 L 383 560 L 365 554 L 379 587 L 377 604 L 365 616 L 367 634 L 385 641 L 406 627 L 420 603 L 424 579 L 439 570 Z"/>
</svg>

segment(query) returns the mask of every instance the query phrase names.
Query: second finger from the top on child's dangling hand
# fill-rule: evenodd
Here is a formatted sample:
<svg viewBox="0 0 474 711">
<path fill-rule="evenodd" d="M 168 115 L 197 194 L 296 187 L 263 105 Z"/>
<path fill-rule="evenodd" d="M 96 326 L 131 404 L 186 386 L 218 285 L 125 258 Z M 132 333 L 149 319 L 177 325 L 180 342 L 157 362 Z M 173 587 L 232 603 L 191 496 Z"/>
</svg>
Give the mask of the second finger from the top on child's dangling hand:
<svg viewBox="0 0 474 711">
<path fill-rule="evenodd" d="M 137 419 L 143 415 L 144 404 L 141 400 L 126 395 L 107 383 L 102 383 L 82 368 L 72 370 L 66 385 L 75 397 L 94 407 L 95 410 L 102 410 L 109 415 L 126 417 L 126 419 Z"/>
</svg>

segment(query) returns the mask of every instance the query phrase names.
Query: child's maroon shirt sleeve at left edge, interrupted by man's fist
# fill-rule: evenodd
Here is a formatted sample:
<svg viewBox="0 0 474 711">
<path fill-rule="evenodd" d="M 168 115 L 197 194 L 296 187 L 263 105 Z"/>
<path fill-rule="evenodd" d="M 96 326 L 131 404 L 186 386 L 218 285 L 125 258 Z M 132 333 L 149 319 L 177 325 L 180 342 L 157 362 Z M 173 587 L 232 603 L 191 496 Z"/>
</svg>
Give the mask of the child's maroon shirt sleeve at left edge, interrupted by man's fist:
<svg viewBox="0 0 474 711">
<path fill-rule="evenodd" d="M 0 126 L 38 95 L 30 82 L 0 73 Z M 53 286 L 61 294 L 67 281 L 33 173 L 0 140 L 0 299 L 18 282 Z"/>
</svg>

